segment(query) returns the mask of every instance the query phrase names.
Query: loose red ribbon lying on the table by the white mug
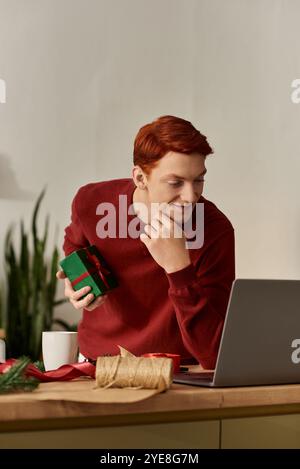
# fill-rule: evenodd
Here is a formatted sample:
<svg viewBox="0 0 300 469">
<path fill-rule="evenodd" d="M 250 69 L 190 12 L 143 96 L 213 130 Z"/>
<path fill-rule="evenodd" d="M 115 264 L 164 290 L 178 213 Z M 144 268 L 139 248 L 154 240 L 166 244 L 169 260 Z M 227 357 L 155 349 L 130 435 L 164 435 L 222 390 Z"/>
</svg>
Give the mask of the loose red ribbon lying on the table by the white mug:
<svg viewBox="0 0 300 469">
<path fill-rule="evenodd" d="M 0 374 L 5 373 L 8 369 L 16 363 L 15 358 L 6 360 L 5 363 L 0 363 Z M 30 363 L 26 370 L 26 376 L 31 376 L 43 381 L 44 383 L 50 381 L 70 381 L 71 379 L 79 378 L 80 376 L 89 376 L 95 378 L 96 367 L 90 362 L 73 363 L 72 365 L 62 365 L 57 370 L 40 371 L 36 366 Z"/>
</svg>

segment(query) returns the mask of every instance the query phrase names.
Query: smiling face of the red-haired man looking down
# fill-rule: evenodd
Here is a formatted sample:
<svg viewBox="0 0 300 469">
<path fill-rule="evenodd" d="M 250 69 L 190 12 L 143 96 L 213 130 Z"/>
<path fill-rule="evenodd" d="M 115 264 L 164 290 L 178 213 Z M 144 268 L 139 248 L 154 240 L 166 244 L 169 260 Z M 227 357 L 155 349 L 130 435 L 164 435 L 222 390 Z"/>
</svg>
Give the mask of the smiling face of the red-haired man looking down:
<svg viewBox="0 0 300 469">
<path fill-rule="evenodd" d="M 168 152 L 146 176 L 147 202 L 166 203 L 174 213 L 189 218 L 203 192 L 205 157 L 199 153 Z"/>
</svg>

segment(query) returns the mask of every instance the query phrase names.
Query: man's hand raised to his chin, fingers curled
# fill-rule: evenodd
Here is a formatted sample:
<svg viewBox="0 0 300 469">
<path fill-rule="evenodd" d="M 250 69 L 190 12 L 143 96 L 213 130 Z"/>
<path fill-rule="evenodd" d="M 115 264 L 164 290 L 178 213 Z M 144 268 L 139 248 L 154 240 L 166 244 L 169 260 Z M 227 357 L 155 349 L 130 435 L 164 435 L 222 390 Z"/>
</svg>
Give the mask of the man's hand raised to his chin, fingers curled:
<svg viewBox="0 0 300 469">
<path fill-rule="evenodd" d="M 191 263 L 189 251 L 185 247 L 184 232 L 173 220 L 171 213 L 169 216 L 159 210 L 144 230 L 140 240 L 167 273 L 177 272 Z"/>
</svg>

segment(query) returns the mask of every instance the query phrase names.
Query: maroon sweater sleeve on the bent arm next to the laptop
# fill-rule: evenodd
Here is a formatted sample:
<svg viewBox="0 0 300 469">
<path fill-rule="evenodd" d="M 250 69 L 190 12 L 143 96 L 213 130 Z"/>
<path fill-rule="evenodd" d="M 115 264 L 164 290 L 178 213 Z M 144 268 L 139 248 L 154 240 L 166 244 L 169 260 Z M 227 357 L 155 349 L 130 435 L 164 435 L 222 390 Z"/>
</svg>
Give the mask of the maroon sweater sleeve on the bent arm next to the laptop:
<svg viewBox="0 0 300 469">
<path fill-rule="evenodd" d="M 235 278 L 234 229 L 209 243 L 198 260 L 167 274 L 183 343 L 206 369 L 214 369 L 232 282 Z"/>
</svg>

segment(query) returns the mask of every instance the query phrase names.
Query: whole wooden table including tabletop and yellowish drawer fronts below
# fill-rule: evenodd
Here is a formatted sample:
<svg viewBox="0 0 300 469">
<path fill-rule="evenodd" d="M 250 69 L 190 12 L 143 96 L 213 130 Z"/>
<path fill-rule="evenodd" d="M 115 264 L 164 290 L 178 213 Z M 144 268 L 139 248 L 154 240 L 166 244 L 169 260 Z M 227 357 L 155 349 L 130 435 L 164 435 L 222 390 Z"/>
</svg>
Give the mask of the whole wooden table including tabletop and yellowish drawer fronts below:
<svg viewBox="0 0 300 469">
<path fill-rule="evenodd" d="M 63 394 L 74 384 L 40 390 L 55 385 Z M 0 396 L 0 448 L 300 448 L 300 385 L 173 383 L 131 404 L 39 401 L 30 394 Z"/>
</svg>

